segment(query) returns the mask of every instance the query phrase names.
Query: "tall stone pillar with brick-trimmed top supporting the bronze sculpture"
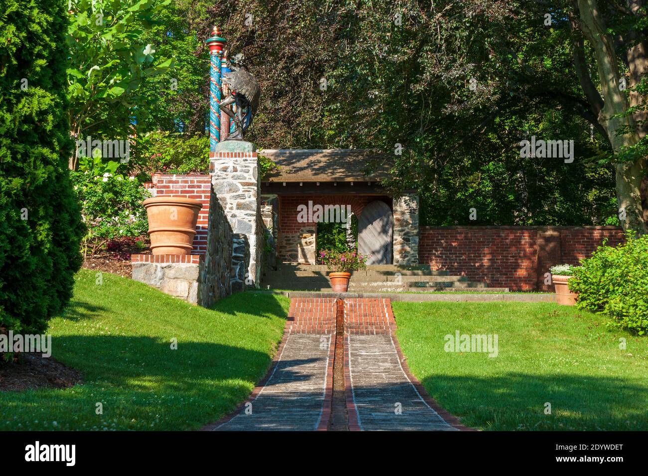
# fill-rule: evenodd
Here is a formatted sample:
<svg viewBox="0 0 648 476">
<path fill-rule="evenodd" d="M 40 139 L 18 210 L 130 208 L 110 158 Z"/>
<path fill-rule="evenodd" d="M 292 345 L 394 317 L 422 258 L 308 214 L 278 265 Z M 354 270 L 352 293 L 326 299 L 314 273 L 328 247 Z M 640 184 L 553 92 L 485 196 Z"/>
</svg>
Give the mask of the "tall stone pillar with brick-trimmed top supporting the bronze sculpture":
<svg viewBox="0 0 648 476">
<path fill-rule="evenodd" d="M 224 141 L 209 153 L 213 191 L 233 232 L 232 291 L 259 287 L 263 251 L 259 162 L 246 141 Z"/>
</svg>

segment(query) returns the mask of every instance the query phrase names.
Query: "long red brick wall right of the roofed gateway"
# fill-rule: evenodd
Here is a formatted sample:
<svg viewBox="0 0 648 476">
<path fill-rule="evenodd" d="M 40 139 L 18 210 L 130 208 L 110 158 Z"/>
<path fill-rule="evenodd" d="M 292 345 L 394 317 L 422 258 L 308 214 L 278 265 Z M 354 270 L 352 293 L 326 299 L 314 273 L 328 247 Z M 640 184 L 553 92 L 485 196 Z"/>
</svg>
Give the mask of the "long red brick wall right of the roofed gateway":
<svg viewBox="0 0 648 476">
<path fill-rule="evenodd" d="M 421 227 L 419 262 L 511 291 L 550 290 L 544 273 L 555 264 L 579 264 L 618 227 Z"/>
</svg>

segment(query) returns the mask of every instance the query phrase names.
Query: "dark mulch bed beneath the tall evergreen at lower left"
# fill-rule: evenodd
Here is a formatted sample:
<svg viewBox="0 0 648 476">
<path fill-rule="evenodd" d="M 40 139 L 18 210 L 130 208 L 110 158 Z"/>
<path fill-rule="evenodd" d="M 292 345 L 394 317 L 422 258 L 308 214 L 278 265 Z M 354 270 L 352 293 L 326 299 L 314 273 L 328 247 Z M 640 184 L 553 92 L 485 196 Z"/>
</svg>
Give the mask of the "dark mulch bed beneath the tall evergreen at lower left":
<svg viewBox="0 0 648 476">
<path fill-rule="evenodd" d="M 0 362 L 0 392 L 67 389 L 81 382 L 81 372 L 40 352 L 24 352 L 17 362 Z"/>
</svg>

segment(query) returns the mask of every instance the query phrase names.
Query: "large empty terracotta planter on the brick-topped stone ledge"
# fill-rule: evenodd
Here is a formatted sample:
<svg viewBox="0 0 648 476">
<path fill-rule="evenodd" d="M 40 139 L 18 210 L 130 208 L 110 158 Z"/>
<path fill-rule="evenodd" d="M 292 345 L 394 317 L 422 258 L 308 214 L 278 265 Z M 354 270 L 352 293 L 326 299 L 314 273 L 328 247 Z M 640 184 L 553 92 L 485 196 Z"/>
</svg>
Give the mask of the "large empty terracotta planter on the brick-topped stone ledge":
<svg viewBox="0 0 648 476">
<path fill-rule="evenodd" d="M 154 255 L 189 255 L 202 203 L 192 198 L 154 197 L 144 201 Z"/>
</svg>

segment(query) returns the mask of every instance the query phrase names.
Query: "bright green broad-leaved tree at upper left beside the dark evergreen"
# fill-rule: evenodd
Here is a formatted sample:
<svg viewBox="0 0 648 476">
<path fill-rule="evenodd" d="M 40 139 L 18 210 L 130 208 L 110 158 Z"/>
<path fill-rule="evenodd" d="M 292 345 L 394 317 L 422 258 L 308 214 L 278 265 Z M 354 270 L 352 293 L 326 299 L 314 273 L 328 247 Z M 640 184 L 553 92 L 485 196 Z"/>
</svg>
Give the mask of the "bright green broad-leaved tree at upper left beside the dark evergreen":
<svg viewBox="0 0 648 476">
<path fill-rule="evenodd" d="M 157 58 L 152 42 L 141 40 L 150 28 L 148 17 L 162 5 L 168 3 L 113 0 L 98 10 L 91 0 L 73 3 L 67 37 L 68 98 L 71 129 L 80 137 L 114 135 L 119 130 L 128 135 L 130 108 L 145 103 L 138 94 L 143 80 L 174 67 L 172 59 Z M 95 21 L 98 13 L 102 21 Z"/>
</svg>

